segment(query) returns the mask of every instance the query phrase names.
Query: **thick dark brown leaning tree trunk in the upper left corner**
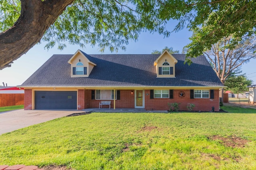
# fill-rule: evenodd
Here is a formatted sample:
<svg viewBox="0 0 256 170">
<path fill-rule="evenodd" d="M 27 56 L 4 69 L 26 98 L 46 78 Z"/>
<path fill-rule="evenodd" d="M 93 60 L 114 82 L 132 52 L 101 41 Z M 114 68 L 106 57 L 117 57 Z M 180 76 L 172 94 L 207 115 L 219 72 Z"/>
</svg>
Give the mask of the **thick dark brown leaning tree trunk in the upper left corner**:
<svg viewBox="0 0 256 170">
<path fill-rule="evenodd" d="M 74 0 L 21 0 L 20 17 L 0 33 L 0 69 L 38 43 L 44 32 Z"/>
</svg>

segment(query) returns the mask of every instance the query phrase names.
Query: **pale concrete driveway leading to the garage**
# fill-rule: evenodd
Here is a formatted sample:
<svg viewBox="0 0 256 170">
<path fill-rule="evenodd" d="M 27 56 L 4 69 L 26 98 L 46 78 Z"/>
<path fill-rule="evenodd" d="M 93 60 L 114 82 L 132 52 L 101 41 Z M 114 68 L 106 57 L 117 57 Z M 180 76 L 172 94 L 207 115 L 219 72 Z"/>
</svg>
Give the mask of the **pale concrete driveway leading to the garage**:
<svg viewBox="0 0 256 170">
<path fill-rule="evenodd" d="M 0 135 L 83 111 L 43 111 L 23 109 L 0 113 Z"/>
</svg>

